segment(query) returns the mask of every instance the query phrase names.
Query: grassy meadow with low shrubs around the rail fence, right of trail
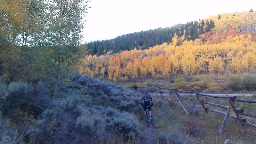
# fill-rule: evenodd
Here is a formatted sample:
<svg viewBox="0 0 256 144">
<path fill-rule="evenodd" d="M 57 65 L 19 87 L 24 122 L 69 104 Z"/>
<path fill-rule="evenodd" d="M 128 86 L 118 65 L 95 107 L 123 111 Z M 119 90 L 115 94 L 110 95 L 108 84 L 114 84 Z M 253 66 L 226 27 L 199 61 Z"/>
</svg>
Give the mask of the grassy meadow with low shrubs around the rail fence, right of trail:
<svg viewBox="0 0 256 144">
<path fill-rule="evenodd" d="M 118 84 L 122 87 L 132 87 L 136 84 L 138 87 L 165 87 L 165 88 L 177 88 L 189 91 L 199 91 L 200 93 L 209 94 L 255 94 L 253 90 L 247 90 L 246 88 L 240 90 L 233 88 L 235 83 L 232 80 L 239 79 L 243 84 L 241 87 L 247 87 L 244 83 L 248 77 L 254 75 L 226 75 L 217 77 L 216 75 L 201 75 L 187 78 L 177 79 L 151 79 L 143 78 L 130 81 L 122 81 Z M 253 81 L 253 79 L 252 79 Z M 186 86 L 183 87 L 185 83 Z M 183 87 L 183 88 L 181 88 Z M 139 88 L 139 90 L 143 90 Z M 150 89 L 150 91 L 156 91 L 156 89 Z M 171 93 L 166 90 L 165 93 Z M 139 93 L 139 92 L 138 92 Z M 155 93 L 151 93 L 155 95 Z M 165 95 L 165 98 L 172 98 L 172 95 Z M 194 95 L 188 95 L 186 97 L 196 98 Z M 217 103 L 221 105 L 229 106 L 227 99 L 218 99 L 212 97 L 200 96 L 200 98 L 207 102 Z M 139 99 L 139 98 L 138 98 Z M 176 99 L 176 97 L 174 98 Z M 237 99 L 256 100 L 254 96 L 237 96 Z M 193 104 L 194 101 L 181 98 L 183 102 Z M 184 104 L 185 109 L 189 112 L 191 106 Z M 255 103 L 235 102 L 236 108 L 244 109 L 244 112 L 255 114 Z M 196 106 L 201 106 L 199 102 L 196 102 Z M 215 107 L 205 104 L 205 106 L 212 110 L 218 110 L 226 113 L 227 109 Z M 231 111 L 231 115 L 235 115 L 234 111 Z M 146 127 L 143 119 L 142 111 L 136 114 L 138 120 L 142 126 Z M 194 108 L 192 115 L 187 115 L 181 107 L 178 101 L 169 101 L 161 97 L 155 98 L 155 104 L 152 108 L 153 116 L 153 133 L 154 143 L 224 143 L 229 139 L 228 143 L 254 143 L 256 140 L 256 130 L 249 125 L 242 125 L 238 120 L 228 118 L 223 133 L 219 133 L 220 126 L 223 122 L 224 116 L 208 111 L 206 113 L 204 109 Z M 256 118 L 242 116 L 247 122 L 256 124 Z"/>
</svg>

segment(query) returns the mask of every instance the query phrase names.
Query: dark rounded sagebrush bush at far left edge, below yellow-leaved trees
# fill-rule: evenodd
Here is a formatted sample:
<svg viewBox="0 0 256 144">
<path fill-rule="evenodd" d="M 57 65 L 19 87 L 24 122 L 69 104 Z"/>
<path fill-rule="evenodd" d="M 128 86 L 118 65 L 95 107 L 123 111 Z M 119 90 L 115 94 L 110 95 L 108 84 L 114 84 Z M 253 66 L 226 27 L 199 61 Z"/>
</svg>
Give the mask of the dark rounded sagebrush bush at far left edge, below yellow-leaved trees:
<svg viewBox="0 0 256 144">
<path fill-rule="evenodd" d="M 4 87 L 4 83 L 1 84 Z M 36 88 L 30 83 L 10 83 L 0 95 L 0 106 L 4 117 L 20 122 L 32 115 L 37 117 L 50 105 L 48 89 L 39 82 Z M 4 95 L 3 95 L 4 94 Z"/>
</svg>

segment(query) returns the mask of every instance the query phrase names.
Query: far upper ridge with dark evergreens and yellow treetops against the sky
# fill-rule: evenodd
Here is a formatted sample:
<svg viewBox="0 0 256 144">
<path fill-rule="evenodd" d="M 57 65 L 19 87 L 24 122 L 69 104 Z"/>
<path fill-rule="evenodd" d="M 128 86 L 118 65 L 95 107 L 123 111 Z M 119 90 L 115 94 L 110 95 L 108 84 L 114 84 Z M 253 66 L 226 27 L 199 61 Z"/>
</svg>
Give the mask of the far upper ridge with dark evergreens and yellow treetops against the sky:
<svg viewBox="0 0 256 144">
<path fill-rule="evenodd" d="M 108 51 L 118 53 L 134 48 L 144 50 L 164 42 L 167 44 L 174 42 L 173 37 L 175 37 L 175 34 L 178 37 L 177 45 L 182 45 L 184 40 L 194 41 L 197 38 L 201 39 L 204 43 L 204 39 L 207 38 L 211 30 L 213 30 L 213 33 L 225 33 L 229 29 L 233 29 L 236 33 L 241 34 L 255 33 L 255 19 L 255 12 L 253 11 L 223 13 L 206 19 L 187 22 L 186 24 L 178 24 L 173 27 L 124 34 L 110 40 L 87 42 L 86 54 L 97 54 L 100 56 Z"/>
</svg>

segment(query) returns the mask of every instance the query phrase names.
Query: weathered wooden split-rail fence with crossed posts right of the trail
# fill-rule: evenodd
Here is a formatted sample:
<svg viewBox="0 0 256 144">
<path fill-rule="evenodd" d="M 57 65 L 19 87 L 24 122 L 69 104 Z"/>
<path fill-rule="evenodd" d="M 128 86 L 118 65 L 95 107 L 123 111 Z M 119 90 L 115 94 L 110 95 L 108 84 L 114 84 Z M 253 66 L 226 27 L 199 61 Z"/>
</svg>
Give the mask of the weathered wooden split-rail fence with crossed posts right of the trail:
<svg viewBox="0 0 256 144">
<path fill-rule="evenodd" d="M 129 88 L 133 88 L 133 87 L 129 87 Z M 232 117 L 234 119 L 238 119 L 238 121 L 241 123 L 242 126 L 244 126 L 244 124 L 246 125 L 250 125 L 250 126 L 253 126 L 253 127 L 256 127 L 255 124 L 252 124 L 250 122 L 247 122 L 245 118 L 241 117 L 241 115 L 244 115 L 244 116 L 248 116 L 248 117 L 253 117 L 253 118 L 256 118 L 256 115 L 253 115 L 253 114 L 249 114 L 249 113 L 245 113 L 244 112 L 244 109 L 239 109 L 239 108 L 236 108 L 235 107 L 235 102 L 248 102 L 248 103 L 256 103 L 256 100 L 243 100 L 243 99 L 236 99 L 236 96 L 217 96 L 217 95 L 209 95 L 209 94 L 202 94 L 202 93 L 199 93 L 199 92 L 191 92 L 191 91 L 183 91 L 183 90 L 177 90 L 177 89 L 174 89 L 174 88 L 163 88 L 163 87 L 138 87 L 140 89 L 143 89 L 143 90 L 138 90 L 140 91 L 141 93 L 143 93 L 143 95 L 145 94 L 146 91 L 148 91 L 149 93 L 154 93 L 154 98 L 155 99 L 156 97 L 162 97 L 163 99 L 166 99 L 166 100 L 170 100 L 170 101 L 179 101 L 180 105 L 182 106 L 182 108 L 185 110 L 185 112 L 187 113 L 187 115 L 191 115 L 192 112 L 193 112 L 193 109 L 196 107 L 196 108 L 202 108 L 205 110 L 206 113 L 208 113 L 208 111 L 211 111 L 211 112 L 215 112 L 215 113 L 218 113 L 218 114 L 221 114 L 221 115 L 224 115 L 224 120 L 220 126 L 220 130 L 219 132 L 222 133 L 223 130 L 224 130 L 224 127 L 226 125 L 226 122 L 228 120 L 228 117 Z M 146 88 L 146 89 L 145 89 Z M 149 90 L 152 90 L 152 89 L 156 89 L 155 91 L 149 91 Z M 164 90 L 169 90 L 173 93 L 164 93 L 162 91 Z M 195 98 L 188 98 L 188 97 L 185 97 L 185 96 L 181 96 L 178 94 L 179 93 L 185 93 L 185 94 L 189 94 L 189 95 L 195 95 Z M 160 95 L 160 96 L 159 96 Z M 165 95 L 171 95 L 172 98 L 165 98 L 164 96 Z M 211 103 L 211 102 L 206 102 L 202 99 L 202 97 L 212 97 L 212 98 L 221 98 L 221 99 L 227 99 L 228 103 L 230 103 L 229 106 L 225 106 L 225 105 L 220 105 L 220 104 L 216 104 L 216 103 Z M 191 100 L 191 101 L 194 101 L 193 104 L 189 104 L 187 102 L 183 102 L 180 98 L 183 98 L 183 99 L 187 99 L 187 100 Z M 200 103 L 200 106 L 197 106 L 196 105 L 196 102 L 199 102 Z M 188 110 L 185 109 L 184 105 L 183 104 L 186 104 L 188 106 L 191 106 L 191 109 L 190 111 L 188 112 Z M 208 105 L 212 105 L 212 106 L 216 106 L 216 107 L 220 107 L 220 108 L 224 108 L 224 109 L 228 109 L 226 113 L 224 112 L 221 112 L 221 111 L 218 111 L 218 110 L 212 110 L 212 109 L 209 109 L 207 107 L 205 107 L 205 104 L 208 104 Z M 231 110 L 233 110 L 235 112 L 236 115 L 231 115 Z"/>
</svg>

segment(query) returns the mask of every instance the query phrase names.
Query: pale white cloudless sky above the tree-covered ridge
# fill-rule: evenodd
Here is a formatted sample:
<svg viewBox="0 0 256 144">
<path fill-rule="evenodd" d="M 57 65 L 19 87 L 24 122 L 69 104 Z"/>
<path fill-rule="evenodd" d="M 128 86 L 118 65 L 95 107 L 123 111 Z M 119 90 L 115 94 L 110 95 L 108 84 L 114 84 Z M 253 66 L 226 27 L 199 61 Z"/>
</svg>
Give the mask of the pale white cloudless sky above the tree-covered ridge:
<svg viewBox="0 0 256 144">
<path fill-rule="evenodd" d="M 83 41 L 108 40 L 221 13 L 256 11 L 255 0 L 91 0 Z"/>
</svg>

